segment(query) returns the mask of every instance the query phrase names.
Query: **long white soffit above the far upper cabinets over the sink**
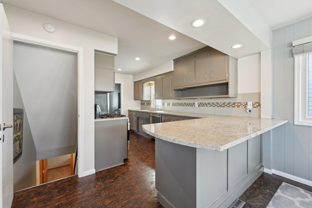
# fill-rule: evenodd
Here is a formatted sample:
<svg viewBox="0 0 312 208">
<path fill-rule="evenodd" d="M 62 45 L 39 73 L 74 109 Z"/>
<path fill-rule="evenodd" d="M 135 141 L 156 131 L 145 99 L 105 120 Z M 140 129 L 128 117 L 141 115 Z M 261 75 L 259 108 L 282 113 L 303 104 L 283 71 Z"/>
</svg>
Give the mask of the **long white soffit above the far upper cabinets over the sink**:
<svg viewBox="0 0 312 208">
<path fill-rule="evenodd" d="M 138 80 L 142 80 L 142 79 L 149 78 L 152 76 L 161 75 L 161 74 L 164 74 L 166 72 L 171 72 L 171 71 L 174 71 L 174 61 L 173 60 L 167 61 L 167 62 L 162 63 L 156 67 L 153 67 L 152 69 L 148 69 L 148 70 L 145 70 L 143 72 L 140 72 L 140 73 L 134 75 L 133 81 L 135 82 Z"/>
</svg>

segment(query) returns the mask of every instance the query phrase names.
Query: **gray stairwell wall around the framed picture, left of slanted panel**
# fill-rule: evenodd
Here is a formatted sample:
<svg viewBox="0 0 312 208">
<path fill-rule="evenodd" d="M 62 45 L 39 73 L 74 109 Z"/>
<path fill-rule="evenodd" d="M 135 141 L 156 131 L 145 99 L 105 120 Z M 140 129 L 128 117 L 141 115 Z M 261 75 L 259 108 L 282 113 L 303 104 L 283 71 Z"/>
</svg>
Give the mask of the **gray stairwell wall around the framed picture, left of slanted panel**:
<svg viewBox="0 0 312 208">
<path fill-rule="evenodd" d="M 24 110 L 22 155 L 13 165 L 14 191 L 36 186 L 36 147 L 14 73 L 13 107 Z"/>
</svg>

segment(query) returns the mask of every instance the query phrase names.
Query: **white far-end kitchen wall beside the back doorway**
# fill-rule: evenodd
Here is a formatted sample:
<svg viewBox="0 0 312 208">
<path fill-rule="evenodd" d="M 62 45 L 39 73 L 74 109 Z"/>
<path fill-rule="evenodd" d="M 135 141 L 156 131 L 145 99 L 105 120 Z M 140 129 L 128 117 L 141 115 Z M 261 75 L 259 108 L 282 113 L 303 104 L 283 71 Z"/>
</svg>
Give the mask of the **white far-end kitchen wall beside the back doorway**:
<svg viewBox="0 0 312 208">
<path fill-rule="evenodd" d="M 141 102 L 133 100 L 133 76 L 124 74 L 115 74 L 115 82 L 121 83 L 121 114 L 128 116 L 128 109 L 140 109 Z"/>
</svg>

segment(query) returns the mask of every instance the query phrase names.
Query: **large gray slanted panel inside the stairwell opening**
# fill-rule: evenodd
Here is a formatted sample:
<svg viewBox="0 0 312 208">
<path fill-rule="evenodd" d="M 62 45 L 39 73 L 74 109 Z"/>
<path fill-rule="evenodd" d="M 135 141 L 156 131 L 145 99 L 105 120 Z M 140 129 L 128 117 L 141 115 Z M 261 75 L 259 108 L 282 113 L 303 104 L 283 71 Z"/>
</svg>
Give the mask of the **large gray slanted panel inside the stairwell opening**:
<svg viewBox="0 0 312 208">
<path fill-rule="evenodd" d="M 77 54 L 14 42 L 14 71 L 37 160 L 76 151 Z"/>
</svg>

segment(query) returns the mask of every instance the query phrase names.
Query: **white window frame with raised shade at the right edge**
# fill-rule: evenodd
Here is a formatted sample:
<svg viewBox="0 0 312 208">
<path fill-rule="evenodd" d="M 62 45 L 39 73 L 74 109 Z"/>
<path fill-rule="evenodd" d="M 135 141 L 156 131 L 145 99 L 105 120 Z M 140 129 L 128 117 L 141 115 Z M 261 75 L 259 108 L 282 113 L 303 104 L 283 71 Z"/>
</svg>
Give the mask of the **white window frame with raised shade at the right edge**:
<svg viewBox="0 0 312 208">
<path fill-rule="evenodd" d="M 312 54 L 312 36 L 292 41 L 294 55 L 294 117 L 295 125 L 312 126 L 308 115 L 308 54 Z"/>
</svg>

